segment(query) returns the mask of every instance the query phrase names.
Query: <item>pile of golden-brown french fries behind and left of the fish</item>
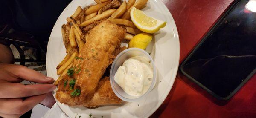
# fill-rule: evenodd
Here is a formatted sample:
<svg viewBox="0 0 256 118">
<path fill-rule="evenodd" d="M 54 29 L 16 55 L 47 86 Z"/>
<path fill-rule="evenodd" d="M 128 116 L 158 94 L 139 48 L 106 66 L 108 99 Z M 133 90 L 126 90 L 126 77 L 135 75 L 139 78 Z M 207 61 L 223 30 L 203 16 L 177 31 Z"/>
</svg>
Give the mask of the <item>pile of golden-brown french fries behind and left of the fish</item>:
<svg viewBox="0 0 256 118">
<path fill-rule="evenodd" d="M 148 0 L 94 0 L 95 5 L 87 6 L 84 9 L 78 6 L 73 15 L 67 18 L 67 23 L 61 27 L 63 42 L 67 55 L 56 67 L 57 75 L 60 75 L 58 81 L 72 67 L 73 61 L 86 43 L 90 30 L 99 24 L 101 20 L 108 19 L 112 23 L 124 26 L 126 29 L 125 39 L 131 40 L 134 35 L 141 33 L 139 29 L 131 22 L 131 8 L 142 9 Z M 124 50 L 122 47 L 120 50 Z"/>
</svg>

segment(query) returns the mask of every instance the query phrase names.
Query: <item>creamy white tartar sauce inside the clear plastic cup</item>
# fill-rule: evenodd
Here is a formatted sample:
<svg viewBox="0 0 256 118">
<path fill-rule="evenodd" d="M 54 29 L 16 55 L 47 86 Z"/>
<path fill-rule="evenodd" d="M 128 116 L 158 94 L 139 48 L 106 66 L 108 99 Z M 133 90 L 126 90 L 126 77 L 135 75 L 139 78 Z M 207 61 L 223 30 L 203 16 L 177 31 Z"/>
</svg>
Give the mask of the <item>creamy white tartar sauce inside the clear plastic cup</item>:
<svg viewBox="0 0 256 118">
<path fill-rule="evenodd" d="M 117 69 L 114 80 L 127 94 L 143 95 L 153 80 L 152 64 L 143 56 L 129 58 Z"/>
</svg>

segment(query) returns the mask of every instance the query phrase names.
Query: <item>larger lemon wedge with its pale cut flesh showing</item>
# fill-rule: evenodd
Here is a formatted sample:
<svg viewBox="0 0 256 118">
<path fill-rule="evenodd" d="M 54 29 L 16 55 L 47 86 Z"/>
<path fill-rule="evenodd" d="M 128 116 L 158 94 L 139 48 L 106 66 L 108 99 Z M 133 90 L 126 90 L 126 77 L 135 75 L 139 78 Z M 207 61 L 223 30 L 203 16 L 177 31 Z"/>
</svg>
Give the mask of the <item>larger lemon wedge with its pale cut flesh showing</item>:
<svg viewBox="0 0 256 118">
<path fill-rule="evenodd" d="M 146 33 L 155 33 L 166 26 L 166 22 L 158 20 L 152 17 L 148 17 L 144 12 L 136 9 L 135 7 L 131 8 L 131 21 L 134 25 L 143 32 Z"/>
</svg>

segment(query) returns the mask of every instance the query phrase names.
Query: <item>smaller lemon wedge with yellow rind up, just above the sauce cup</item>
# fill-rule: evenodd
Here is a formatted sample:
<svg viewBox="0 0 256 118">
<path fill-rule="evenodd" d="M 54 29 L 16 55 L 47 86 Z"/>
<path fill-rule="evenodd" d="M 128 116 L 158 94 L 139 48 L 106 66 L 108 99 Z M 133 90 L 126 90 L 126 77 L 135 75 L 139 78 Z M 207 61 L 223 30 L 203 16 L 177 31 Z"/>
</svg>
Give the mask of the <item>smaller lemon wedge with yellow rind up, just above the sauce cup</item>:
<svg viewBox="0 0 256 118">
<path fill-rule="evenodd" d="M 135 35 L 129 42 L 128 48 L 140 48 L 140 49 L 146 49 L 148 44 L 152 40 L 152 34 L 148 33 L 140 33 Z"/>
</svg>

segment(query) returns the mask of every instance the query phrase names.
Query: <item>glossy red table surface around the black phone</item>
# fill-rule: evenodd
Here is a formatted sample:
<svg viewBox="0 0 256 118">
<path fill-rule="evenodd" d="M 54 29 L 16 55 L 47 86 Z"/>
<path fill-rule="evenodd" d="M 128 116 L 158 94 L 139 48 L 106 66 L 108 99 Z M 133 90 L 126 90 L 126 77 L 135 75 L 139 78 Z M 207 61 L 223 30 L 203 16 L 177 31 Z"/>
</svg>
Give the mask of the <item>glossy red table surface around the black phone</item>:
<svg viewBox="0 0 256 118">
<path fill-rule="evenodd" d="M 175 20 L 180 37 L 180 63 L 233 0 L 162 0 Z M 223 102 L 191 82 L 180 71 L 171 92 L 152 118 L 256 118 L 256 75 Z"/>
</svg>

